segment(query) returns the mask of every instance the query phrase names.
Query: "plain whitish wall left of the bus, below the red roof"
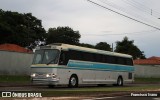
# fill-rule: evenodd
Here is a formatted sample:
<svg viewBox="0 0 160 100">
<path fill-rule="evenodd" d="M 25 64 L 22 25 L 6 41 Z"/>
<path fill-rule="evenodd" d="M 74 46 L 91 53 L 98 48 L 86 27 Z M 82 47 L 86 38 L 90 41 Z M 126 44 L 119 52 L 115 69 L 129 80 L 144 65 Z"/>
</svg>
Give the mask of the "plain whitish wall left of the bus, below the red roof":
<svg viewBox="0 0 160 100">
<path fill-rule="evenodd" d="M 29 75 L 32 53 L 0 51 L 0 75 Z"/>
</svg>

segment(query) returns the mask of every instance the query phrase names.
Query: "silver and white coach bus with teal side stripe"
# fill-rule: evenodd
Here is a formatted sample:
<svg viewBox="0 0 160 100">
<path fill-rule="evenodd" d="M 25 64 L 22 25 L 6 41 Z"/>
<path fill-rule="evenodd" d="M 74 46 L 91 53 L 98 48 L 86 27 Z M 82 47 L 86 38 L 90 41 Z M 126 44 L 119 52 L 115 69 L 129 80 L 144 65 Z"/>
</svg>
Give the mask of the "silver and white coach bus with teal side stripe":
<svg viewBox="0 0 160 100">
<path fill-rule="evenodd" d="M 36 48 L 31 65 L 31 81 L 56 85 L 123 86 L 134 81 L 131 55 L 54 43 Z"/>
</svg>

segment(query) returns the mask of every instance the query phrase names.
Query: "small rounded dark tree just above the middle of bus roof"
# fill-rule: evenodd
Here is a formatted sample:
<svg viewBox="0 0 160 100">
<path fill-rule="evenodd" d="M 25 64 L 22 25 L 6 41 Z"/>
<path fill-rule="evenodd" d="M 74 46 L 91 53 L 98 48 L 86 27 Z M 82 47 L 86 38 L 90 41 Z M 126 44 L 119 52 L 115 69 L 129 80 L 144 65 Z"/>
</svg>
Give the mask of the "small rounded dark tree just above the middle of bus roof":
<svg viewBox="0 0 160 100">
<path fill-rule="evenodd" d="M 96 49 L 100 49 L 100 50 L 106 50 L 106 51 L 111 51 L 111 47 L 108 43 L 106 42 L 99 42 L 95 45 Z"/>
</svg>

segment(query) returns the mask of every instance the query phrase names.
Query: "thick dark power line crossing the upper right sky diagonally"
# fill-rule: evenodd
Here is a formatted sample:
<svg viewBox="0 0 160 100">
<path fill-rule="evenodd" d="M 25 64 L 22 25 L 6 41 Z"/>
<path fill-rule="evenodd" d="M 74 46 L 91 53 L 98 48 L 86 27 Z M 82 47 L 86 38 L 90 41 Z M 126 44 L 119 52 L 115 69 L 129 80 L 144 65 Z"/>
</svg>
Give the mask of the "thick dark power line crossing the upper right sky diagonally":
<svg viewBox="0 0 160 100">
<path fill-rule="evenodd" d="M 131 20 L 134 20 L 134 21 L 139 22 L 139 23 L 141 23 L 141 24 L 144 24 L 144 25 L 146 25 L 146 26 L 149 26 L 149 27 L 155 28 L 155 29 L 157 29 L 157 30 L 160 30 L 160 28 L 158 28 L 158 27 L 156 27 L 156 26 L 153 26 L 153 25 L 144 23 L 144 22 L 142 22 L 142 21 L 139 21 L 139 20 L 137 20 L 137 19 L 134 19 L 134 18 L 132 18 L 132 17 L 129 17 L 129 16 L 127 16 L 127 15 L 124 15 L 124 14 L 122 14 L 122 13 L 119 13 L 119 12 L 117 12 L 117 11 L 115 11 L 115 10 L 112 10 L 112 9 L 110 9 L 110 8 L 107 8 L 107 7 L 103 6 L 103 5 L 100 5 L 100 4 L 98 4 L 98 3 L 94 2 L 94 1 L 91 1 L 91 0 L 87 0 L 87 1 L 90 2 L 90 3 L 92 3 L 92 4 L 97 5 L 97 6 L 99 6 L 99 7 L 102 7 L 102 8 L 104 8 L 104 9 L 107 9 L 107 10 L 109 10 L 109 11 L 112 11 L 112 12 L 114 12 L 114 13 L 116 13 L 116 14 L 119 14 L 119 15 L 121 15 L 121 16 L 123 16 L 123 17 L 129 18 L 129 19 L 131 19 Z"/>
</svg>

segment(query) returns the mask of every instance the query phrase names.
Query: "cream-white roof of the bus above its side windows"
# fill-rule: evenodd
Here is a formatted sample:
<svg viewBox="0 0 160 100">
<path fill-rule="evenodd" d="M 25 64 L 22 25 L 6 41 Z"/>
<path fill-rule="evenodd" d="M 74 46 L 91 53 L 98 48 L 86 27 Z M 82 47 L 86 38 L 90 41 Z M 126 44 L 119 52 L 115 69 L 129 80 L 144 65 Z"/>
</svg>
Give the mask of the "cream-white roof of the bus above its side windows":
<svg viewBox="0 0 160 100">
<path fill-rule="evenodd" d="M 92 49 L 92 48 L 75 46 L 75 45 L 64 44 L 64 43 L 53 43 L 53 44 L 49 44 L 47 46 L 60 46 L 62 48 L 62 50 L 77 50 L 77 51 L 84 51 L 84 52 L 90 52 L 90 53 L 97 53 L 97 54 L 105 54 L 105 55 L 111 55 L 111 56 L 132 58 L 132 56 L 128 55 L 128 54 L 122 54 L 122 53 Z"/>
</svg>

